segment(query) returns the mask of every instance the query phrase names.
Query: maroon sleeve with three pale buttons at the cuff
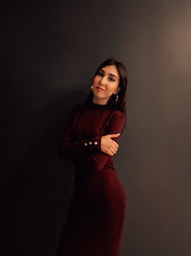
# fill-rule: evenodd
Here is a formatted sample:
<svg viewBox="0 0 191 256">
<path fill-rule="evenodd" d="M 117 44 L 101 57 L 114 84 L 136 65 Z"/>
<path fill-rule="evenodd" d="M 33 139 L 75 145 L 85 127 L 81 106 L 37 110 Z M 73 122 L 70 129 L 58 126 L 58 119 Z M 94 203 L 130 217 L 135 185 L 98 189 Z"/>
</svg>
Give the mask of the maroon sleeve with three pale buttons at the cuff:
<svg viewBox="0 0 191 256">
<path fill-rule="evenodd" d="M 75 163 L 83 154 L 89 152 L 100 151 L 100 139 L 101 136 L 96 136 L 92 139 L 84 139 L 74 141 L 73 138 L 73 124 L 74 117 L 77 115 L 77 105 L 71 108 L 68 116 L 66 126 L 61 138 L 61 143 L 58 146 L 58 152 L 61 157 L 67 158 L 71 162 Z"/>
</svg>

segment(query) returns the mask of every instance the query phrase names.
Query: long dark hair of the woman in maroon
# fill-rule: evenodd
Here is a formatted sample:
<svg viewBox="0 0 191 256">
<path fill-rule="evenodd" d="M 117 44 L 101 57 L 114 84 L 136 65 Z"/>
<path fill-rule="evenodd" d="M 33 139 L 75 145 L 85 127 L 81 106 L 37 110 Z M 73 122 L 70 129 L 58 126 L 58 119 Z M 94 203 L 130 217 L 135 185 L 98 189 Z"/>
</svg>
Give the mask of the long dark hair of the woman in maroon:
<svg viewBox="0 0 191 256">
<path fill-rule="evenodd" d="M 107 108 L 113 108 L 113 109 L 118 109 L 122 111 L 123 113 L 126 113 L 126 101 L 127 101 L 127 84 L 128 84 L 128 79 L 127 79 L 127 71 L 126 67 L 124 64 L 121 62 L 117 61 L 115 58 L 107 58 L 105 61 L 103 61 L 96 69 L 95 75 L 93 77 L 93 81 L 95 79 L 96 74 L 99 72 L 99 70 L 102 67 L 109 66 L 109 65 L 115 65 L 117 67 L 117 71 L 119 74 L 119 83 L 118 86 L 120 88 L 119 92 L 117 93 L 118 95 L 118 100 L 116 100 L 116 95 L 111 95 L 108 102 L 107 102 Z M 92 81 L 92 84 L 93 84 Z M 88 94 L 88 97 L 85 101 L 86 105 L 89 105 L 93 102 L 94 98 L 94 93 L 92 90 L 90 90 L 90 93 Z"/>
</svg>

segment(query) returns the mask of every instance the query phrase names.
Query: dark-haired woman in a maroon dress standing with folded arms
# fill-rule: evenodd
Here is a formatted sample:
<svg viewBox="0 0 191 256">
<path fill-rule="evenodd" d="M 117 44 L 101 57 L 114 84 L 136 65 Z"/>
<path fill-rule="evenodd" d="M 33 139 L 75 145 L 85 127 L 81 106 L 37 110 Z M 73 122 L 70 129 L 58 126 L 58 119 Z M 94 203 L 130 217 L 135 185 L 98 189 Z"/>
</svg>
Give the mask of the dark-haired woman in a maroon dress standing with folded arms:
<svg viewBox="0 0 191 256">
<path fill-rule="evenodd" d="M 59 153 L 74 163 L 74 198 L 59 255 L 119 255 L 126 194 L 113 156 L 126 121 L 126 89 L 125 66 L 108 58 L 97 68 L 85 103 L 71 109 Z"/>
</svg>

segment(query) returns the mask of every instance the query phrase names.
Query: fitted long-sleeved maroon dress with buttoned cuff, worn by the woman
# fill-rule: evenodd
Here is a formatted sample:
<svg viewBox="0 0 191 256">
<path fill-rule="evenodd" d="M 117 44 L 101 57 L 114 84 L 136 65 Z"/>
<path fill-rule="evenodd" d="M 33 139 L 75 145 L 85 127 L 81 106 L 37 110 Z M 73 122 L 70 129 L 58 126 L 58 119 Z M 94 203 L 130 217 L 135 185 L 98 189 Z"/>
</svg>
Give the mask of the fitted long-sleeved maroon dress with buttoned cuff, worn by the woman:
<svg viewBox="0 0 191 256">
<path fill-rule="evenodd" d="M 100 151 L 101 136 L 122 131 L 125 114 L 106 105 L 71 109 L 60 153 L 74 163 L 75 183 L 61 241 L 63 256 L 118 256 L 126 215 L 126 194 L 113 156 Z M 119 139 L 113 138 L 116 142 Z"/>
</svg>

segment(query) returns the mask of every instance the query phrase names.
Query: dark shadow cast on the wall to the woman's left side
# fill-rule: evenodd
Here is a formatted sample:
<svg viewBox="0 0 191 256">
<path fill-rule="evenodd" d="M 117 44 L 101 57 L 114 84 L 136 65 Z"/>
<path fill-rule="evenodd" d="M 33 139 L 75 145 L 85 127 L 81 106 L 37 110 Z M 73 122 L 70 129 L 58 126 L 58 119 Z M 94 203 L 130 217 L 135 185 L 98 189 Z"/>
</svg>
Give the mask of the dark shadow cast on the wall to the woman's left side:
<svg viewBox="0 0 191 256">
<path fill-rule="evenodd" d="M 71 106 L 83 101 L 82 91 L 63 94 L 34 116 L 38 136 L 8 185 L 5 255 L 55 254 L 74 188 L 74 165 L 57 147 Z"/>
</svg>

